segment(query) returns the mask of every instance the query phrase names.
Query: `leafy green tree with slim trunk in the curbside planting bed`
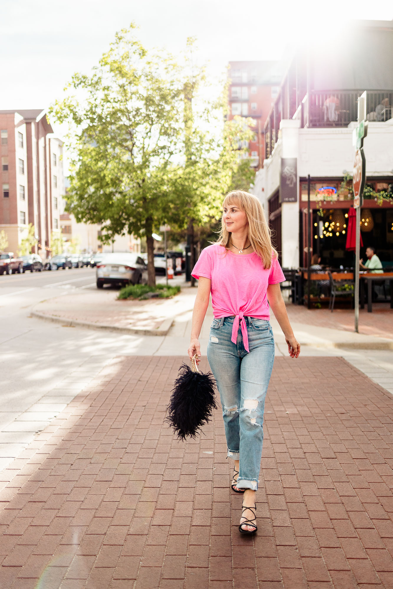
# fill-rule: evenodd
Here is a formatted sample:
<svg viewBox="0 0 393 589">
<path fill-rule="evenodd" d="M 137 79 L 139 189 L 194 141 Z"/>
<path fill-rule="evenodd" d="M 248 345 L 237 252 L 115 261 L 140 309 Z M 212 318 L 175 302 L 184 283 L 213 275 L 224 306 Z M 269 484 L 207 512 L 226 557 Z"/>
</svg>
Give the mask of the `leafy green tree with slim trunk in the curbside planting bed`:
<svg viewBox="0 0 393 589">
<path fill-rule="evenodd" d="M 152 233 L 164 211 L 171 217 L 169 163 L 179 135 L 181 88 L 175 62 L 148 57 L 134 28 L 116 34 L 91 77 L 73 76 L 68 89 L 83 99 L 67 95 L 51 112 L 68 121 L 74 146 L 67 210 L 77 221 L 101 223 L 103 243 L 116 234 L 144 235 L 154 285 Z"/>
</svg>

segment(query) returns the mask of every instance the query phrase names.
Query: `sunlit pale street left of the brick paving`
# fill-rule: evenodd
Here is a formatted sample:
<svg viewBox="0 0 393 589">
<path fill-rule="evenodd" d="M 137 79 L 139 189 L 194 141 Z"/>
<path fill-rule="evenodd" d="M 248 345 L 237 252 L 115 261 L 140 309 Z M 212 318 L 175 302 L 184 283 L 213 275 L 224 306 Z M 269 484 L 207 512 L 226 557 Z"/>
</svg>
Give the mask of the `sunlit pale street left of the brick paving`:
<svg viewBox="0 0 393 589">
<path fill-rule="evenodd" d="M 115 356 L 154 354 L 163 337 L 96 332 L 35 319 L 38 302 L 96 289 L 96 270 L 0 276 L 0 469 Z"/>
</svg>

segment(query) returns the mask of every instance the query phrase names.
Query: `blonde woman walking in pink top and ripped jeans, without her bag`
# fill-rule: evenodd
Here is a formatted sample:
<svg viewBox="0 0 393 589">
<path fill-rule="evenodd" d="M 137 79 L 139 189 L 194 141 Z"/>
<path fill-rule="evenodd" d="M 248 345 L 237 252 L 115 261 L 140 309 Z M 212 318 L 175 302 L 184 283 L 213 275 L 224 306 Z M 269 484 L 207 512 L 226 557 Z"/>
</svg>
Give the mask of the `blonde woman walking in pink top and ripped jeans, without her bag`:
<svg viewBox="0 0 393 589">
<path fill-rule="evenodd" d="M 300 354 L 280 282 L 285 280 L 258 198 L 234 190 L 222 203 L 217 243 L 202 250 L 192 276 L 199 280 L 188 355 L 201 350 L 209 294 L 214 319 L 207 357 L 220 392 L 228 456 L 234 460 L 231 488 L 244 493 L 239 530 L 257 531 L 255 492 L 263 444 L 263 412 L 274 361 L 269 305 L 284 332 L 291 358 Z"/>
</svg>

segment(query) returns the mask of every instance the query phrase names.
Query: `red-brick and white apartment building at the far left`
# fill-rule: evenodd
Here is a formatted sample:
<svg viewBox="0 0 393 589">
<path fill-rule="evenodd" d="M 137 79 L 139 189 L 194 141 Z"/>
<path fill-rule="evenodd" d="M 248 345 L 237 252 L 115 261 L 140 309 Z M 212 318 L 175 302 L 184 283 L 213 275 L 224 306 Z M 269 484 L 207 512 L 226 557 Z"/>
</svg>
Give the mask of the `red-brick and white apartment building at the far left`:
<svg viewBox="0 0 393 589">
<path fill-rule="evenodd" d="M 53 137 L 44 110 L 0 111 L 0 134 L 0 231 L 16 253 L 31 223 L 38 240 L 34 249 L 46 258 L 51 234 L 60 231 L 63 141 Z"/>
</svg>

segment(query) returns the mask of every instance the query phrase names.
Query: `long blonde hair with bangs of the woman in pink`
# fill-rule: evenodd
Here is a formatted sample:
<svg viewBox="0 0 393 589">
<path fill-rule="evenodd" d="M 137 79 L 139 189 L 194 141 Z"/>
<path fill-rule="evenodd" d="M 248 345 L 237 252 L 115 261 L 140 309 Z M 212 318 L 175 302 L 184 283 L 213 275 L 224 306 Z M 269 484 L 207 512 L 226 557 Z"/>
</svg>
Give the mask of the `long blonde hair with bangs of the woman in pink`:
<svg viewBox="0 0 393 589">
<path fill-rule="evenodd" d="M 263 207 L 256 196 L 243 190 L 232 190 L 225 196 L 222 208 L 229 205 L 236 205 L 244 211 L 248 220 L 248 239 L 254 248 L 254 252 L 260 257 L 263 267 L 271 267 L 271 258 L 277 259 L 278 254 L 271 244 L 271 230 L 267 224 Z M 224 222 L 224 214 L 221 217 L 221 231 L 218 240 L 215 242 L 225 247 L 225 250 L 232 246 L 232 234 L 227 230 Z"/>
</svg>

